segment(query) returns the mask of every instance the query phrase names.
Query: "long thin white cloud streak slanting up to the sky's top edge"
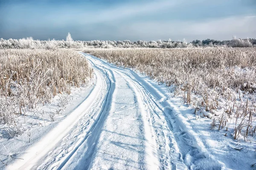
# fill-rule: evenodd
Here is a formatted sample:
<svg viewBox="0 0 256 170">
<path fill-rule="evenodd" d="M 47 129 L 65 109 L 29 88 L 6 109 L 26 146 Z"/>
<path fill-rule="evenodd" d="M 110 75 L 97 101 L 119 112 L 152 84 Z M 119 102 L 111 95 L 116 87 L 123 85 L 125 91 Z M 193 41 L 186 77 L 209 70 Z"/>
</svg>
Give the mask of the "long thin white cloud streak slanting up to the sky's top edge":
<svg viewBox="0 0 256 170">
<path fill-rule="evenodd" d="M 203 0 L 193 0 L 193 3 L 200 3 Z M 131 17 L 140 17 L 145 14 L 157 14 L 159 11 L 172 10 L 183 3 L 191 3 L 188 0 L 157 0 L 147 3 L 122 4 L 111 8 L 96 8 L 94 11 L 85 8 L 64 8 L 60 7 L 46 16 L 51 23 L 65 25 L 66 23 L 76 22 L 81 25 L 108 23 L 117 20 L 125 20 Z M 66 9 L 67 8 L 67 9 Z M 52 17 L 55 16 L 55 17 Z M 56 16 L 58 20 L 56 20 Z"/>
</svg>

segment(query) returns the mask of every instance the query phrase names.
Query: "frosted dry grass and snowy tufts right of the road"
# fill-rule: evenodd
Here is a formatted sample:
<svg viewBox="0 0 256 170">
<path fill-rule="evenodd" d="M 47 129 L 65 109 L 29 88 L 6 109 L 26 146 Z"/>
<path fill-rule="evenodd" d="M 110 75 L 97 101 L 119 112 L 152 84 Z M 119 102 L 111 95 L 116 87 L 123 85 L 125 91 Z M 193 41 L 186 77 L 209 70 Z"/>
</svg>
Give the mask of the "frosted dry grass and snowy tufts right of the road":
<svg viewBox="0 0 256 170">
<path fill-rule="evenodd" d="M 234 139 L 256 141 L 256 48 L 87 49 L 115 65 L 135 68 L 166 84 L 212 119 L 212 129 L 231 130 Z"/>
</svg>

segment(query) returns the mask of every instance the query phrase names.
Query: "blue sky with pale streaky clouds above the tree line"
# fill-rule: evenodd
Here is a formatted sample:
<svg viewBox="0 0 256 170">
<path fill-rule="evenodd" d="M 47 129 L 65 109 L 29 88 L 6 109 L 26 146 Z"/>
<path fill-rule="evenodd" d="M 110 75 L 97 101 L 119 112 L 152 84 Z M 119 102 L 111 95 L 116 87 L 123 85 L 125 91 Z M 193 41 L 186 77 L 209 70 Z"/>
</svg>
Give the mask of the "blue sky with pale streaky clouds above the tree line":
<svg viewBox="0 0 256 170">
<path fill-rule="evenodd" d="M 256 0 L 0 0 L 0 38 L 256 38 Z"/>
</svg>

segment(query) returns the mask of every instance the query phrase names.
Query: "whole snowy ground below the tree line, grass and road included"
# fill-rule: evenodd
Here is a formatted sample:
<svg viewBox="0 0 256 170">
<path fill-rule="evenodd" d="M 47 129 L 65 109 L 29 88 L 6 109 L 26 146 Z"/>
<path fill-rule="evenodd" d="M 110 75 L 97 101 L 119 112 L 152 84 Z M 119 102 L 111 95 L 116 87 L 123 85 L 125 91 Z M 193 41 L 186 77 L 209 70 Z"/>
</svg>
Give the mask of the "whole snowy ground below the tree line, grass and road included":
<svg viewBox="0 0 256 170">
<path fill-rule="evenodd" d="M 84 52 L 0 50 L 0 168 L 255 165 L 256 48 Z"/>
</svg>

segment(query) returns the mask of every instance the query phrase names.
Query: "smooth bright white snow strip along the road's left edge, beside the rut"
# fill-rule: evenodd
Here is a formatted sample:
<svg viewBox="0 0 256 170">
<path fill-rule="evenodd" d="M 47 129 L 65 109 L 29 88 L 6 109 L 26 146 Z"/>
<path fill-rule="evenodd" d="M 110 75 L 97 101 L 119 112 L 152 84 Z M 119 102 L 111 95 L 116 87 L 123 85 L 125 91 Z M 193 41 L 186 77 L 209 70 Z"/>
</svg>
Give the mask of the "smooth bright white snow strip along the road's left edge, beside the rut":
<svg viewBox="0 0 256 170">
<path fill-rule="evenodd" d="M 99 75 L 99 74 L 98 74 Z M 16 169 L 34 169 L 38 161 L 44 158 L 47 153 L 56 146 L 56 144 L 63 139 L 72 127 L 87 113 L 88 109 L 94 105 L 97 99 L 100 99 L 99 94 L 102 88 L 102 79 L 97 79 L 97 83 L 87 99 L 84 100 L 67 118 L 60 122 L 55 128 L 53 128 L 43 139 L 34 144 L 26 153 L 21 156 L 23 159 L 15 161 L 6 167 L 8 170 Z"/>
</svg>

